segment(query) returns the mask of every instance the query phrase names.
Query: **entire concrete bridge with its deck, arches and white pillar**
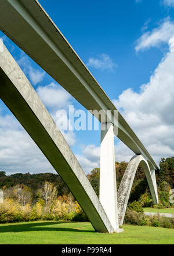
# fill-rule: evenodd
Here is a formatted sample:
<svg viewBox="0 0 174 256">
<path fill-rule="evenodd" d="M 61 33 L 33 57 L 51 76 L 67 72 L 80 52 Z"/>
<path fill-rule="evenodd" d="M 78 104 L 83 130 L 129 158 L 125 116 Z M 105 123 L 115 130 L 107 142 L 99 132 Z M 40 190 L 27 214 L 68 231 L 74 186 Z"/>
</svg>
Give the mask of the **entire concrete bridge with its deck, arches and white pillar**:
<svg viewBox="0 0 174 256">
<path fill-rule="evenodd" d="M 4 45 L 0 52 L 0 97 L 70 188 L 98 232 L 121 232 L 133 179 L 143 165 L 158 204 L 157 165 L 102 87 L 37 0 L 1 0 L 0 29 L 86 109 L 102 111 L 100 200 L 41 99 Z M 111 111 L 111 115 L 107 110 Z M 115 113 L 118 113 L 116 115 Z M 95 113 L 94 113 L 95 115 Z M 95 115 L 106 126 L 100 116 Z M 134 153 L 116 187 L 114 134 Z"/>
</svg>

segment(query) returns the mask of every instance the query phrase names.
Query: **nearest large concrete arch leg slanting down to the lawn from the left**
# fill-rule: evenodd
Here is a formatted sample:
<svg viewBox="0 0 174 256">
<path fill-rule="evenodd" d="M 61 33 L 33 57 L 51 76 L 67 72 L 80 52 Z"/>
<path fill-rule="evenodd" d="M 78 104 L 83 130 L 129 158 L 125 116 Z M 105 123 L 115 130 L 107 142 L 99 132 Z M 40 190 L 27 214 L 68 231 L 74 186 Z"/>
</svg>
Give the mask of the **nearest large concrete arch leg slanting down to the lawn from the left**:
<svg viewBox="0 0 174 256">
<path fill-rule="evenodd" d="M 0 98 L 67 184 L 97 232 L 113 226 L 77 158 L 25 74 L 0 41 Z"/>
</svg>

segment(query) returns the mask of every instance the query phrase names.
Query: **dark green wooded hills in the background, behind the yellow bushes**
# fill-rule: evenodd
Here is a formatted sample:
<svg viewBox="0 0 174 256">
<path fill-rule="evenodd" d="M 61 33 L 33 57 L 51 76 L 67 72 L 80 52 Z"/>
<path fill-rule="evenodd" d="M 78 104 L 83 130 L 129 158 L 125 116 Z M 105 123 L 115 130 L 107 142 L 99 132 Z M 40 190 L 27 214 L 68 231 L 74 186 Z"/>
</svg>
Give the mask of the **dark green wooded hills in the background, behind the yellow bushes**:
<svg viewBox="0 0 174 256">
<path fill-rule="evenodd" d="M 127 165 L 128 163 L 126 162 L 115 162 L 117 189 L 121 183 L 121 179 Z M 93 189 L 96 191 L 96 194 L 99 196 L 100 169 L 93 169 L 87 177 L 92 184 Z M 160 204 L 158 207 L 170 207 L 169 190 L 174 188 L 174 157 L 161 159 L 160 169 L 156 172 L 156 179 L 158 195 L 160 198 Z M 63 195 L 68 196 L 68 194 L 70 194 L 70 190 L 61 177 L 53 173 L 16 173 L 8 176 L 5 172 L 0 172 L 1 189 L 5 191 L 6 189 L 10 189 L 15 186 L 27 186 L 32 193 L 32 202 L 38 201 L 38 190 L 42 190 L 45 182 L 50 182 L 56 187 L 57 196 L 63 197 Z M 148 189 L 146 175 L 141 166 L 139 166 L 135 175 L 131 195 L 129 197 L 129 204 L 133 201 L 141 202 L 143 207 L 149 207 L 153 204 L 150 191 Z"/>
</svg>

